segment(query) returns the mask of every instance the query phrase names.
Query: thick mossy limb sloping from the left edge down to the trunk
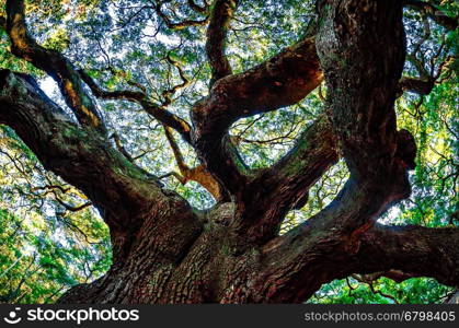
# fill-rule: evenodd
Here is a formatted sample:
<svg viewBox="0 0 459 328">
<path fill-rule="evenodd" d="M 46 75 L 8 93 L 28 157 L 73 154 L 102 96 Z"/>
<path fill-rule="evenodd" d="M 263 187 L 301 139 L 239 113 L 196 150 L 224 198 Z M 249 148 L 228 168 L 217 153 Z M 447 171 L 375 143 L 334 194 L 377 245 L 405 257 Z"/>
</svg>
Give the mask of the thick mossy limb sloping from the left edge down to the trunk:
<svg viewBox="0 0 459 328">
<path fill-rule="evenodd" d="M 141 208 L 153 190 L 159 192 L 156 183 L 112 150 L 105 139 L 72 124 L 32 78 L 3 70 L 0 83 L 1 124 L 16 131 L 45 168 L 81 189 L 108 223 L 130 216 L 124 208 L 128 202 L 135 201 Z M 123 191 L 127 189 L 131 195 Z"/>
</svg>

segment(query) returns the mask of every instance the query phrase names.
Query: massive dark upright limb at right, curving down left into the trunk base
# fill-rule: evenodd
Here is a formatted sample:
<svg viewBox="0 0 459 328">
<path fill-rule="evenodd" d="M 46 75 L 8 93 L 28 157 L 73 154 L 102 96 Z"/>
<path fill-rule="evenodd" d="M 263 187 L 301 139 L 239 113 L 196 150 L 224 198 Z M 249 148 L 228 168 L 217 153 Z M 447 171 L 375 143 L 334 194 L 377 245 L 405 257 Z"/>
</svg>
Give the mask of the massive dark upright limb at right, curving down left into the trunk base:
<svg viewBox="0 0 459 328">
<path fill-rule="evenodd" d="M 330 206 L 265 245 L 255 302 L 300 302 L 325 281 L 358 273 L 348 262 L 363 235 L 411 191 L 415 144 L 397 131 L 393 109 L 405 55 L 401 3 L 323 0 L 318 9 L 328 115 L 351 178 Z"/>
</svg>

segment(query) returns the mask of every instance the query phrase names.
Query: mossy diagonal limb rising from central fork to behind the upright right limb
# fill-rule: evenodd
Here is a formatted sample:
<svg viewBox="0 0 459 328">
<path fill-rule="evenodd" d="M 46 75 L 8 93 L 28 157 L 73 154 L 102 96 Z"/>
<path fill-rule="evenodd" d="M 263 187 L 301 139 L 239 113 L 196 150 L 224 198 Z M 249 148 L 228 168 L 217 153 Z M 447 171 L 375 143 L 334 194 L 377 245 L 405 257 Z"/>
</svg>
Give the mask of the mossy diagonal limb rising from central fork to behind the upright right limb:
<svg viewBox="0 0 459 328">
<path fill-rule="evenodd" d="M 322 115 L 277 164 L 250 181 L 241 197 L 243 215 L 237 218 L 234 229 L 256 244 L 275 237 L 287 212 L 306 204 L 309 188 L 337 159 L 335 137 Z"/>
</svg>

